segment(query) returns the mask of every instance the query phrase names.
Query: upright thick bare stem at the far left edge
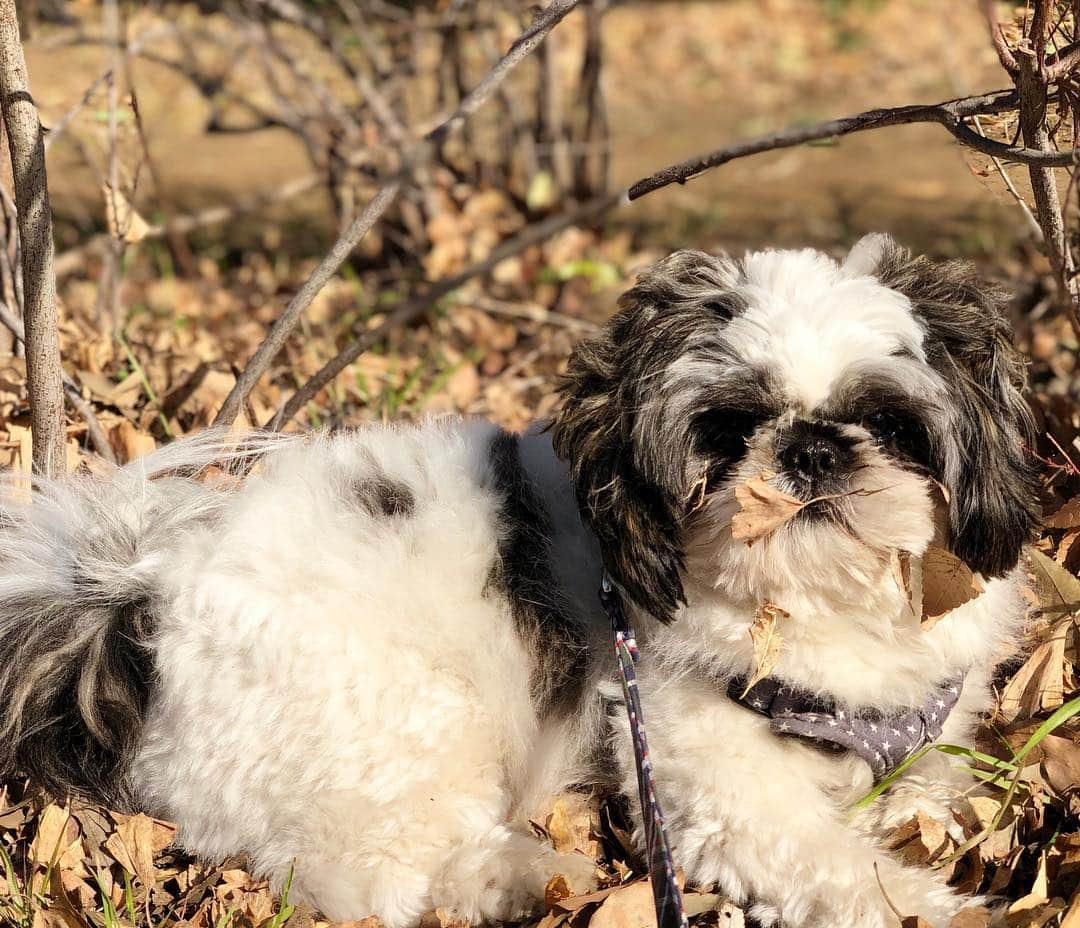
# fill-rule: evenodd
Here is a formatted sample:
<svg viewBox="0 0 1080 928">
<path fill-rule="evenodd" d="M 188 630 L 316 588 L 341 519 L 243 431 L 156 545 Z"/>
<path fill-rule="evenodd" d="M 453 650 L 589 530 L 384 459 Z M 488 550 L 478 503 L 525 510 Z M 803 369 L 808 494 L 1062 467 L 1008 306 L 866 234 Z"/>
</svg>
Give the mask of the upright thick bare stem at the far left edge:
<svg viewBox="0 0 1080 928">
<path fill-rule="evenodd" d="M 67 469 L 67 461 L 56 278 L 53 275 L 53 221 L 44 137 L 30 95 L 15 0 L 0 0 L 0 108 L 15 179 L 23 248 L 23 311 L 33 471 L 57 478 Z"/>
</svg>

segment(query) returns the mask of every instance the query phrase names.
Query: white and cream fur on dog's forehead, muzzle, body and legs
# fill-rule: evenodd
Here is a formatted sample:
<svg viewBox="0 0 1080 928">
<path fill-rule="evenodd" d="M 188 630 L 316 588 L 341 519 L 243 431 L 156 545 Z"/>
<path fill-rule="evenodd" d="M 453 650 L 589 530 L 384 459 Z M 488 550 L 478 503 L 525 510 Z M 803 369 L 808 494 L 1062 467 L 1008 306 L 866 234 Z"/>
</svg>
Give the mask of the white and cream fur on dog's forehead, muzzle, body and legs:
<svg viewBox="0 0 1080 928">
<path fill-rule="evenodd" d="M 778 374 L 793 408 L 814 409 L 867 364 L 941 389 L 906 299 L 864 277 L 864 264 L 813 252 L 744 264 L 748 308 L 725 337 Z M 500 532 L 494 434 L 443 420 L 318 436 L 271 446 L 242 486 L 175 495 L 174 523 L 183 507 L 215 517 L 184 523 L 152 565 L 158 682 L 132 779 L 147 809 L 179 824 L 186 847 L 211 858 L 246 851 L 279 886 L 295 868 L 297 898 L 335 919 L 375 913 L 389 928 L 436 905 L 470 920 L 517 917 L 554 873 L 588 884 L 590 862 L 554 855 L 527 817 L 543 795 L 588 780 L 585 758 L 604 743 L 636 804 L 625 721 L 616 710 L 608 723 L 602 702 L 618 697 L 595 596 L 599 560 L 564 466 L 545 435 L 530 434 L 523 459 L 552 515 L 558 583 L 593 635 L 585 699 L 569 718 L 544 718 L 528 689 L 530 647 L 543 642 L 523 642 L 488 591 Z M 767 444 L 700 514 L 688 605 L 669 627 L 637 617 L 640 689 L 679 863 L 689 882 L 719 882 L 765 923 L 792 928 L 892 924 L 877 864 L 905 914 L 945 926 L 970 900 L 877 840 L 927 796 L 946 818 L 950 791 L 962 802 L 947 765 L 928 757 L 906 788 L 853 818 L 847 807 L 870 785 L 862 761 L 777 738 L 701 671 L 751 670 L 747 630 L 771 600 L 791 614 L 777 672 L 837 699 L 909 705 L 969 670 L 942 736 L 966 743 L 1017 633 L 1013 583 L 988 583 L 923 632 L 886 549 L 918 554 L 933 539 L 933 488 L 885 460 L 860 478 L 881 493 L 848 503 L 860 538 L 814 523 L 752 548 L 732 540 L 733 487 L 768 463 Z M 205 448 L 180 443 L 146 467 L 183 467 L 185 454 L 202 461 Z M 165 486 L 149 470 L 135 476 L 146 497 Z M 407 486 L 415 511 L 386 519 L 353 505 L 375 472 Z"/>
</svg>

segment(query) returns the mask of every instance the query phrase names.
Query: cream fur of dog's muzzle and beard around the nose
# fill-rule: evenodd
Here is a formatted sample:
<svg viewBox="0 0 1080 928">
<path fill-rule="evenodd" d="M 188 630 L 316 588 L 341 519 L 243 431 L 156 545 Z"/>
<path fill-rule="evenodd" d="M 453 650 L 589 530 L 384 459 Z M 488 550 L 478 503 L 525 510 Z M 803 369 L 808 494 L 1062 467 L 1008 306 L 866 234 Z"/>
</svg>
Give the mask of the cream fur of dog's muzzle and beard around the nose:
<svg viewBox="0 0 1080 928">
<path fill-rule="evenodd" d="M 785 472 L 775 444 L 773 430 L 755 434 L 743 459 L 693 514 L 688 575 L 740 602 L 784 605 L 798 597 L 820 608 L 847 608 L 895 599 L 891 553 L 920 554 L 936 534 L 933 482 L 865 439 L 853 449 L 850 474 L 818 493 Z M 732 537 L 740 509 L 735 490 L 761 474 L 774 488 L 813 502 L 760 538 Z"/>
</svg>

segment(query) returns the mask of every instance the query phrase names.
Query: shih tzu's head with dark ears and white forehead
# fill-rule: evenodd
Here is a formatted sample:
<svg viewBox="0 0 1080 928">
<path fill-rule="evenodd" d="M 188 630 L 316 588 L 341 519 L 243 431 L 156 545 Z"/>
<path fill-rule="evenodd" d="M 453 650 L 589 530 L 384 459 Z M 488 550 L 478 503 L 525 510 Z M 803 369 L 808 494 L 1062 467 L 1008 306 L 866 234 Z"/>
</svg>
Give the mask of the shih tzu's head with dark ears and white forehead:
<svg viewBox="0 0 1080 928">
<path fill-rule="evenodd" d="M 842 265 L 660 261 L 575 352 L 554 426 L 612 576 L 667 620 L 685 576 L 859 602 L 891 551 L 935 539 L 985 576 L 1010 570 L 1038 485 L 1000 302 L 968 265 L 883 236 Z M 748 546 L 731 535 L 735 489 L 762 473 L 814 501 Z"/>
</svg>

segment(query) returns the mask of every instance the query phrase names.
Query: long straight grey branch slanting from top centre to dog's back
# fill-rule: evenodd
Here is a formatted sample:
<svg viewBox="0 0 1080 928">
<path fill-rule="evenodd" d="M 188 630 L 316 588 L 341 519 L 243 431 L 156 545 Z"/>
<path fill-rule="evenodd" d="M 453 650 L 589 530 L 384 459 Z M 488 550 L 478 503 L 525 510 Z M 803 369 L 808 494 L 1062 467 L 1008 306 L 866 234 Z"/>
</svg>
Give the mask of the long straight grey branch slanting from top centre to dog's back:
<svg viewBox="0 0 1080 928">
<path fill-rule="evenodd" d="M 8 0 L 13 2 L 13 0 Z M 511 45 L 499 63 L 458 105 L 457 109 L 441 124 L 435 126 L 418 143 L 402 152 L 402 166 L 387 179 L 375 198 L 364 207 L 345 233 L 334 243 L 329 253 L 311 272 L 311 277 L 285 307 L 284 312 L 270 328 L 266 339 L 252 355 L 247 366 L 237 379 L 237 385 L 226 398 L 214 419 L 215 426 L 231 425 L 240 413 L 244 399 L 252 392 L 259 377 L 266 373 L 274 355 L 281 351 L 289 334 L 296 327 L 305 310 L 311 305 L 326 282 L 337 272 L 345 259 L 361 239 L 379 220 L 382 214 L 397 199 L 397 194 L 413 172 L 424 164 L 440 145 L 457 132 L 464 121 L 480 109 L 507 76 L 517 67 L 543 41 L 544 37 L 578 4 L 578 0 L 553 0 L 539 13 L 529 26 Z"/>
</svg>

